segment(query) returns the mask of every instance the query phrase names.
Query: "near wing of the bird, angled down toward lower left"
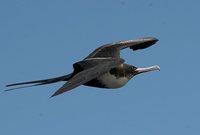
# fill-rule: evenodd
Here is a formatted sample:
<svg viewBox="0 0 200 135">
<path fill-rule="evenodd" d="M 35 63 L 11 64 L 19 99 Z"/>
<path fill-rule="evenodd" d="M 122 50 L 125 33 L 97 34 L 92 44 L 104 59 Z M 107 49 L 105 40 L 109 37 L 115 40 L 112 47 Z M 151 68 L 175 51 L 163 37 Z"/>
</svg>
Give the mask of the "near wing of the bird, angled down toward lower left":
<svg viewBox="0 0 200 135">
<path fill-rule="evenodd" d="M 108 58 L 108 59 L 104 59 L 104 61 L 101 60 L 101 62 L 98 62 L 98 60 L 95 60 L 95 61 L 91 60 L 90 62 L 93 62 L 92 65 L 95 65 L 95 66 L 89 67 L 88 69 L 85 69 L 77 73 L 76 75 L 74 75 L 68 82 L 66 82 L 60 89 L 58 89 L 52 95 L 52 97 L 57 96 L 59 94 L 72 90 L 73 88 L 76 88 L 82 84 L 87 83 L 88 81 L 98 77 L 99 75 L 108 72 L 110 69 L 116 66 L 119 66 L 120 64 L 124 62 L 124 60 Z"/>
</svg>

